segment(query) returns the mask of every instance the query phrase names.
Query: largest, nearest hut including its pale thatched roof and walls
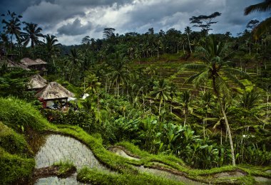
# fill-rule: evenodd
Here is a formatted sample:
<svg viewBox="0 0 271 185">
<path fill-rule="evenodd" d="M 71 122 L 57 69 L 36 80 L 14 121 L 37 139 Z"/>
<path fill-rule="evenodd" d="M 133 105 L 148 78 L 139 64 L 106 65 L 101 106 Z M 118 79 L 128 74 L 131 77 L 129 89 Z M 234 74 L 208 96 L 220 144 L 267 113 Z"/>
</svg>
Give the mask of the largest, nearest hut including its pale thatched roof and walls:
<svg viewBox="0 0 271 185">
<path fill-rule="evenodd" d="M 39 91 L 36 96 L 42 102 L 46 102 L 46 104 L 44 103 L 44 108 L 50 107 L 56 101 L 60 104 L 62 102 L 68 102 L 68 97 L 74 97 L 73 93 L 56 82 L 48 83 L 48 85 L 46 85 L 43 90 Z"/>
</svg>

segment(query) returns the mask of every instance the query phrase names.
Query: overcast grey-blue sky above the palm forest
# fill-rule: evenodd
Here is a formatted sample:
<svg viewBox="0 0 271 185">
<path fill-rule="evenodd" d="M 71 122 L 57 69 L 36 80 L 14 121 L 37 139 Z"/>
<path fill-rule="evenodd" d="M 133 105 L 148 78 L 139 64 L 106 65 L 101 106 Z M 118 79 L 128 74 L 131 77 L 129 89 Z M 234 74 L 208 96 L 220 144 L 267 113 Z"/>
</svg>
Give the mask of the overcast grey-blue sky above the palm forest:
<svg viewBox="0 0 271 185">
<path fill-rule="evenodd" d="M 111 27 L 116 33 L 145 33 L 148 28 L 168 31 L 175 28 L 183 32 L 192 27 L 189 18 L 222 15 L 212 26 L 213 33 L 230 31 L 232 36 L 244 31 L 251 19 L 264 20 L 267 13 L 244 16 L 246 6 L 262 0 L 1 0 L 0 13 L 7 10 L 23 16 L 22 21 L 37 23 L 44 34 L 57 36 L 62 44 L 81 43 L 84 36 L 102 38 L 103 28 Z M 197 31 L 197 28 L 192 28 Z"/>
</svg>

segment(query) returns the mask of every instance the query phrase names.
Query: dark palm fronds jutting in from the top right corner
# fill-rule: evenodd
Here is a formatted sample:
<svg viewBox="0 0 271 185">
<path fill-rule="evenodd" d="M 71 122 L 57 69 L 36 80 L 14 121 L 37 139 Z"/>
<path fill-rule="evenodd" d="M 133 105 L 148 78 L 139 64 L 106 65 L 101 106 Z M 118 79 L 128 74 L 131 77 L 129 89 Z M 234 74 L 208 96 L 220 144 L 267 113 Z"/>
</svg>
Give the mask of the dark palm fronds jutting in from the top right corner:
<svg viewBox="0 0 271 185">
<path fill-rule="evenodd" d="M 248 15 L 254 11 L 271 11 L 271 0 L 264 0 L 259 4 L 253 4 L 245 8 L 245 15 Z M 264 33 L 267 28 L 271 26 L 271 17 L 266 18 L 265 21 L 262 21 L 254 30 L 255 38 L 259 38 L 262 33 Z"/>
</svg>

